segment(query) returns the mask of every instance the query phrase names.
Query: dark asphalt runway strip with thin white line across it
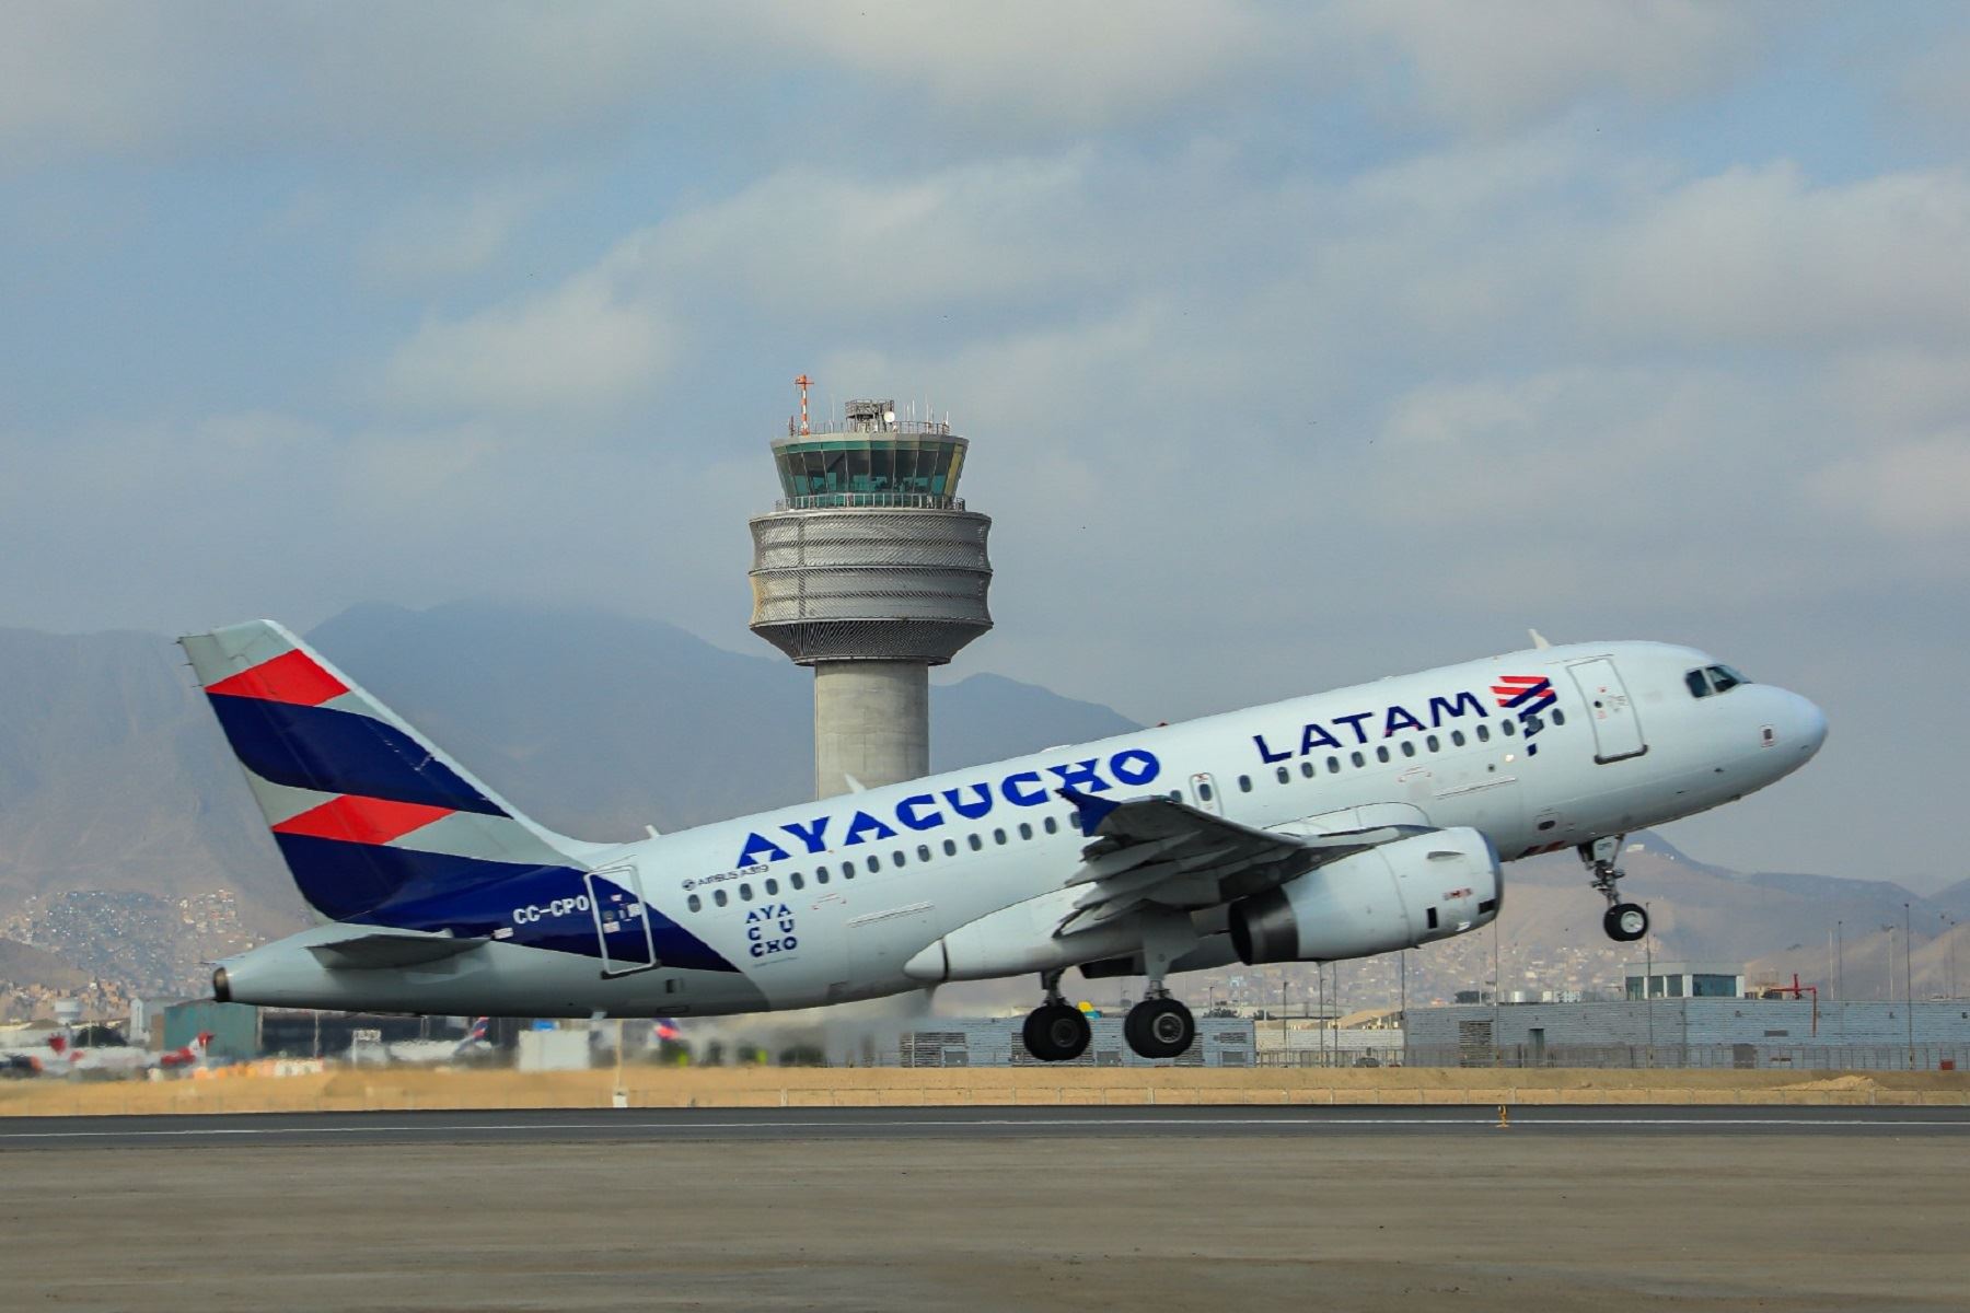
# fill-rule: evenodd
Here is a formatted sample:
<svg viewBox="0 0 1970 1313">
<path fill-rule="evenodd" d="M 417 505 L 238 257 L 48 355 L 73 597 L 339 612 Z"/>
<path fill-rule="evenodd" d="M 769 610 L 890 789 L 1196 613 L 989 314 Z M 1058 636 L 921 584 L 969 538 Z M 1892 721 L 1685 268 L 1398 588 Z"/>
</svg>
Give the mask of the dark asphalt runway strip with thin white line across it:
<svg viewBox="0 0 1970 1313">
<path fill-rule="evenodd" d="M 624 1108 L 325 1112 L 0 1120 L 0 1152 L 311 1144 L 583 1144 L 760 1140 L 1084 1140 L 1279 1136 L 1938 1136 L 1970 1108 Z"/>
</svg>

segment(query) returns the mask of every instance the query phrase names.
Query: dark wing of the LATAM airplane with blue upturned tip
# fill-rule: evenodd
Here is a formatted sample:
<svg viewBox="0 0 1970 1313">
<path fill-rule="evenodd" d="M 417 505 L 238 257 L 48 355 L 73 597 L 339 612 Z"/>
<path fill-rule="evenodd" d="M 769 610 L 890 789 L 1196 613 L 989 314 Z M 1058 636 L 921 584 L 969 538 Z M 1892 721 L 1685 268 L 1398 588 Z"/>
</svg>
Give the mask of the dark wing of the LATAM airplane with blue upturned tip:
<svg viewBox="0 0 1970 1313">
<path fill-rule="evenodd" d="M 1196 911 L 1261 894 L 1326 862 L 1428 831 L 1405 803 L 1351 807 L 1282 829 L 1253 829 L 1170 797 L 1109 801 L 1062 789 L 1080 809 L 1082 888 L 1062 935 L 1156 904 Z"/>
</svg>

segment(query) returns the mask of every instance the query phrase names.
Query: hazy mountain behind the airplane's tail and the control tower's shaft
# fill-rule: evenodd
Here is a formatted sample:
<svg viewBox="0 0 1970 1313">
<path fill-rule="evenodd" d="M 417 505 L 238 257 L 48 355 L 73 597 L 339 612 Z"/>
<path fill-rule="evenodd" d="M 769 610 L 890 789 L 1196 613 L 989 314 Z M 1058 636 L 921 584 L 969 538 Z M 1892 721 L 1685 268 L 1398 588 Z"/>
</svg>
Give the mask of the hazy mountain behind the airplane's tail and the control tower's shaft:
<svg viewBox="0 0 1970 1313">
<path fill-rule="evenodd" d="M 812 797 L 812 675 L 601 610 L 355 606 L 309 640 L 544 823 L 634 839 Z M 169 990 L 305 923 L 177 648 L 0 630 L 0 935 Z M 973 675 L 932 689 L 940 770 L 1133 728 Z M 41 976 L 53 988 L 49 963 Z M 63 986 L 65 988 L 65 986 Z"/>
</svg>

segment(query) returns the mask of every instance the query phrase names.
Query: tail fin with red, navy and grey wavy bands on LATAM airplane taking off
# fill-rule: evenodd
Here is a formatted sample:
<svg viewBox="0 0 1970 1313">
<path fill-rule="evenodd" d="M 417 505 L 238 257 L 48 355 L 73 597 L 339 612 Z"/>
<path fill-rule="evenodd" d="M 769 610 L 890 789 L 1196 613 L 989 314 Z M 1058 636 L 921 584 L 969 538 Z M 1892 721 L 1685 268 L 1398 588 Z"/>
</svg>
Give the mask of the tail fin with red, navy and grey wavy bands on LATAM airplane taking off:
<svg viewBox="0 0 1970 1313">
<path fill-rule="evenodd" d="M 177 640 L 307 904 L 335 921 L 538 866 L 585 866 L 272 620 Z"/>
</svg>

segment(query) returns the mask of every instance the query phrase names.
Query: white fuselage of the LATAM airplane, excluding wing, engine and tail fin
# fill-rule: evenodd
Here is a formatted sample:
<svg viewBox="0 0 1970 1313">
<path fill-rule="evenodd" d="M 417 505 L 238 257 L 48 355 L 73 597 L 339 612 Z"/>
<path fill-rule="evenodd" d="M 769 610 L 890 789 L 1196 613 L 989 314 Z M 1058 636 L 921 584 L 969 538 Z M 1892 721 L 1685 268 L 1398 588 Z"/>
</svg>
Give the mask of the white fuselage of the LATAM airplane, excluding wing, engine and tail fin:
<svg viewBox="0 0 1970 1313">
<path fill-rule="evenodd" d="M 658 961 L 613 974 L 593 959 L 496 941 L 422 970 L 321 972 L 305 955 L 268 963 L 258 980 L 252 955 L 229 969 L 246 1002 L 418 1012 L 707 1016 L 894 994 L 922 984 L 904 965 L 926 945 L 1074 876 L 1087 839 L 1062 787 L 1117 801 L 1174 795 L 1253 829 L 1395 803 L 1432 827 L 1474 827 L 1513 860 L 1716 807 L 1818 750 L 1824 717 L 1795 693 L 1743 683 L 1694 697 L 1688 671 L 1712 663 L 1649 642 L 1515 652 L 782 807 L 595 858 L 660 923 L 737 970 Z M 1535 677 L 1550 681 L 1552 701 L 1529 726 L 1497 689 Z M 1200 933 L 1221 929 L 1221 919 L 1204 921 Z"/>
</svg>

